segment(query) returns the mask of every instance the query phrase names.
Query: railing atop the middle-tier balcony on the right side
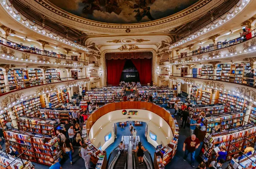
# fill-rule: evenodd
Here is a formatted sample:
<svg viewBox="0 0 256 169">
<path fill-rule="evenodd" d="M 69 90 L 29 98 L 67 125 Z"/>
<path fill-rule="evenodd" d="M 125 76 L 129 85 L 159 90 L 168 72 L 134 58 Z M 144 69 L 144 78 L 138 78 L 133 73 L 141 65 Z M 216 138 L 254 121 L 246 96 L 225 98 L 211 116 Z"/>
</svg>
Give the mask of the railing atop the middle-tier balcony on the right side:
<svg viewBox="0 0 256 169">
<path fill-rule="evenodd" d="M 256 29 L 253 29 L 253 30 L 251 30 L 249 32 L 249 33 L 252 34 L 252 38 L 254 38 L 255 35 L 256 35 L 256 33 L 252 33 L 255 30 Z M 242 42 L 245 42 L 245 41 L 246 41 L 245 35 L 242 35 L 242 36 L 239 36 L 236 39 L 232 39 L 232 40 L 229 40 L 229 41 L 221 42 L 221 43 L 219 43 L 217 45 L 210 46 L 210 44 L 207 44 L 209 46 L 204 47 L 204 48 L 198 48 L 197 50 L 194 50 L 194 51 L 186 53 L 186 54 L 182 53 L 182 54 L 180 54 L 178 56 L 174 56 L 170 60 L 179 59 L 179 58 L 186 58 L 186 57 L 189 57 L 189 56 L 193 56 L 193 55 L 197 55 L 197 54 L 202 54 L 202 53 L 206 53 L 206 52 L 209 52 L 209 51 L 214 51 L 214 50 L 218 50 L 218 49 L 222 49 L 222 48 L 227 48 L 227 47 L 230 47 L 232 45 L 236 45 L 236 44 L 239 44 L 239 43 L 242 43 Z"/>
</svg>

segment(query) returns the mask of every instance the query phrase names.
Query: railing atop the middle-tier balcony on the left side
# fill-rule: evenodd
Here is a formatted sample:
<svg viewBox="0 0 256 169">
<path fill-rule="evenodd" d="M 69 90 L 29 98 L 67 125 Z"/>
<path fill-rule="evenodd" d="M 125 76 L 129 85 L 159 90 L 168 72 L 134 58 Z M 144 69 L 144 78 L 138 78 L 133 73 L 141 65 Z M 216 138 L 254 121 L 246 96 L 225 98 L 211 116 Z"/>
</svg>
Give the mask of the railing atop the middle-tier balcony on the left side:
<svg viewBox="0 0 256 169">
<path fill-rule="evenodd" d="M 12 42 L 10 40 L 7 40 L 7 39 L 1 37 L 1 36 L 0 36 L 0 38 L 2 39 L 2 40 L 0 40 L 0 44 L 3 44 L 5 46 L 8 46 L 13 49 L 20 50 L 20 51 L 24 51 L 24 52 L 28 52 L 28 53 L 32 53 L 32 54 L 39 54 L 39 55 L 43 55 L 43 56 L 67 59 L 67 60 L 71 60 L 71 61 L 87 62 L 87 60 L 78 58 L 78 56 L 74 57 L 74 56 L 67 56 L 66 54 L 61 54 L 61 53 L 58 54 L 56 52 L 50 52 L 47 50 L 41 50 L 41 49 L 34 48 L 34 47 L 19 45 L 15 42 Z"/>
</svg>

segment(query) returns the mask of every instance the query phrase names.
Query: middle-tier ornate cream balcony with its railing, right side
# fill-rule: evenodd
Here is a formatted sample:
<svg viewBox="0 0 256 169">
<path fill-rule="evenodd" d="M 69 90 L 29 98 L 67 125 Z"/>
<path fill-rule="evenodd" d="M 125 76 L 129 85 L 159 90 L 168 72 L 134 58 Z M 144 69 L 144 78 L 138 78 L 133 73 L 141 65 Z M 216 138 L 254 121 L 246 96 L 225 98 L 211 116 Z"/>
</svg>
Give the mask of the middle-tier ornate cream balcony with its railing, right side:
<svg viewBox="0 0 256 169">
<path fill-rule="evenodd" d="M 255 29 L 254 29 L 255 30 Z M 252 31 L 254 31 L 252 30 Z M 181 57 L 181 55 L 173 57 L 170 61 L 170 65 L 179 65 L 195 62 L 207 62 L 209 60 L 219 60 L 219 59 L 236 59 L 239 57 L 246 58 L 255 56 L 256 51 L 256 33 L 252 34 L 250 40 L 245 41 L 243 36 L 230 40 L 228 42 L 222 42 L 221 44 L 215 46 L 209 46 L 202 48 L 190 53 L 187 53 L 186 57 Z"/>
</svg>

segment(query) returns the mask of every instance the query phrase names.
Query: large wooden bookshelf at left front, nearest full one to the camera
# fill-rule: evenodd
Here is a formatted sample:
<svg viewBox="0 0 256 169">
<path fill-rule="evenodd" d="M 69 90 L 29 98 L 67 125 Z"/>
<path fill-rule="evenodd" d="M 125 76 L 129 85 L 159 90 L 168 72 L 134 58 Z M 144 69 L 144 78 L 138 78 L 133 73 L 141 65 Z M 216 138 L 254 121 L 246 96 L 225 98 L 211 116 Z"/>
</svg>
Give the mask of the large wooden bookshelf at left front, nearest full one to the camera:
<svg viewBox="0 0 256 169">
<path fill-rule="evenodd" d="M 18 131 L 4 131 L 4 136 L 7 140 L 13 140 L 18 143 L 32 146 L 28 152 L 21 155 L 22 159 L 30 160 L 32 162 L 51 166 L 50 158 L 60 161 L 62 158 L 60 146 L 58 145 L 57 137 L 36 137 L 33 135 L 26 135 L 18 133 Z M 26 145 L 14 146 L 21 154 L 24 150 L 29 148 Z"/>
</svg>

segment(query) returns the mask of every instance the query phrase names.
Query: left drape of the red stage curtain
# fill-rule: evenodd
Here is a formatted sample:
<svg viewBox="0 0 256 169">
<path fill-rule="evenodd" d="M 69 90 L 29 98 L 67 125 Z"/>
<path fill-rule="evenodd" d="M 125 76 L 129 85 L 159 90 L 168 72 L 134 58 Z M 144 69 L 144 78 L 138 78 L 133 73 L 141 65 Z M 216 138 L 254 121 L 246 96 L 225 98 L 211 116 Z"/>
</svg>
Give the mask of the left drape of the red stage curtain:
<svg viewBox="0 0 256 169">
<path fill-rule="evenodd" d="M 118 85 L 126 59 L 106 60 L 108 85 Z"/>
</svg>

